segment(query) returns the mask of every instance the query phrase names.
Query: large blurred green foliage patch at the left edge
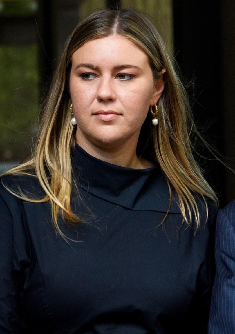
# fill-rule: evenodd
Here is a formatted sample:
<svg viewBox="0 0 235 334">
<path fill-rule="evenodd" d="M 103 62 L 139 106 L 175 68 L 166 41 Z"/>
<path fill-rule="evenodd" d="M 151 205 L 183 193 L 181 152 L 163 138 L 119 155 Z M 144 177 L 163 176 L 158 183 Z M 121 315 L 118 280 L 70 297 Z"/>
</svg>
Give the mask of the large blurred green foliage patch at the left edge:
<svg viewBox="0 0 235 334">
<path fill-rule="evenodd" d="M 28 155 L 39 96 L 37 45 L 0 45 L 0 161 Z"/>
</svg>

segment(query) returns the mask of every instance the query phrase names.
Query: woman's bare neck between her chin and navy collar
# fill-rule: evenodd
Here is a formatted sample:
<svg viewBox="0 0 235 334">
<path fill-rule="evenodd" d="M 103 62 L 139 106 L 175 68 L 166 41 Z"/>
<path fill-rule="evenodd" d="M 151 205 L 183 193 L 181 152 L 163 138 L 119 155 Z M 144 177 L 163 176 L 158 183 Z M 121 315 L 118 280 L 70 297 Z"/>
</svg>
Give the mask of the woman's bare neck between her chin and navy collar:
<svg viewBox="0 0 235 334">
<path fill-rule="evenodd" d="M 88 143 L 83 140 L 77 140 L 78 145 L 93 157 L 106 161 L 108 163 L 134 169 L 144 169 L 153 166 L 144 158 L 136 154 L 136 145 L 133 143 L 124 143 L 121 145 L 108 146 L 106 144 Z"/>
</svg>

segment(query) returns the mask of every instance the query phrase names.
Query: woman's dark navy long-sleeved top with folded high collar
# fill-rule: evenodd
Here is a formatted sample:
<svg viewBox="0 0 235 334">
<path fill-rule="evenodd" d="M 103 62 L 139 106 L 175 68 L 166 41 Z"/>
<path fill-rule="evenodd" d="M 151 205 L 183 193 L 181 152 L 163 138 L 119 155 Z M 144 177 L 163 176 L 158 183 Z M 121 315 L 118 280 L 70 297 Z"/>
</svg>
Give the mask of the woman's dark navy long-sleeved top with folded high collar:
<svg viewBox="0 0 235 334">
<path fill-rule="evenodd" d="M 80 189 L 71 205 L 83 223 L 52 227 L 50 204 L 0 187 L 0 333 L 207 333 L 214 277 L 214 220 L 198 198 L 202 229 L 182 224 L 158 167 L 130 169 L 77 147 Z M 43 196 L 36 178 L 3 180 Z M 203 227 L 204 226 L 204 227 Z"/>
</svg>

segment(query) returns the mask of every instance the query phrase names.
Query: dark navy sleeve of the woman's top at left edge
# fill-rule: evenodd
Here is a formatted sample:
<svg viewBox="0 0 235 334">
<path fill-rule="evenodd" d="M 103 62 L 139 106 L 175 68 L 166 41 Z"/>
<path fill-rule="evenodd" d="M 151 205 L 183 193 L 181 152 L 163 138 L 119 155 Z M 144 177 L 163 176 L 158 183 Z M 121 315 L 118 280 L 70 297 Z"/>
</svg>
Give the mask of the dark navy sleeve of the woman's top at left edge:
<svg viewBox="0 0 235 334">
<path fill-rule="evenodd" d="M 19 261 L 19 256 L 25 258 L 23 212 L 17 198 L 2 186 L 0 212 L 0 333 L 19 334 L 23 328 L 21 267 L 25 266 L 25 261 Z"/>
</svg>

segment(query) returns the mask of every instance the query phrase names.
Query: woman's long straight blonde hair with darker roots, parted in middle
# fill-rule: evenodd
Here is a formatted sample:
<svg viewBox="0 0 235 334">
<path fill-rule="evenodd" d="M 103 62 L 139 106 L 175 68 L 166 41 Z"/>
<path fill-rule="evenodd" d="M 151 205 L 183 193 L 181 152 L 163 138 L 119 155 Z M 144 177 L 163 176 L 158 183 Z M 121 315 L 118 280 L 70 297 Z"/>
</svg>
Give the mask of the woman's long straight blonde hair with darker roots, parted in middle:
<svg viewBox="0 0 235 334">
<path fill-rule="evenodd" d="M 195 194 L 204 200 L 207 216 L 208 205 L 205 197 L 215 202 L 217 197 L 192 154 L 189 134 L 191 131 L 196 132 L 196 129 L 187 94 L 156 28 L 143 14 L 133 9 L 100 10 L 85 18 L 75 28 L 67 41 L 48 98 L 42 107 L 34 152 L 26 162 L 5 173 L 36 176 L 45 197 L 35 199 L 30 198 L 23 189 L 8 190 L 27 201 L 50 201 L 54 226 L 63 238 L 66 236 L 58 225 L 59 211 L 63 220 L 68 223 L 81 221 L 81 217 L 72 212 L 70 206 L 72 186 L 76 187 L 71 165 L 76 127 L 71 124 L 68 92 L 71 57 L 89 40 L 112 34 L 125 36 L 145 51 L 155 80 L 161 77 L 162 69 L 166 69 L 165 88 L 158 101 L 159 126 L 151 125 L 149 113 L 141 129 L 137 152 L 158 163 L 165 174 L 170 194 L 168 211 L 173 187 L 184 220 L 190 226 L 194 217 L 198 230 L 200 212 Z M 30 170 L 34 172 L 30 173 Z M 76 193 L 79 195 L 79 189 L 76 189 Z"/>
</svg>

